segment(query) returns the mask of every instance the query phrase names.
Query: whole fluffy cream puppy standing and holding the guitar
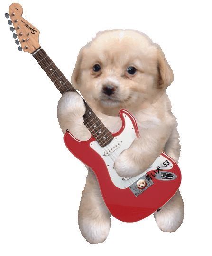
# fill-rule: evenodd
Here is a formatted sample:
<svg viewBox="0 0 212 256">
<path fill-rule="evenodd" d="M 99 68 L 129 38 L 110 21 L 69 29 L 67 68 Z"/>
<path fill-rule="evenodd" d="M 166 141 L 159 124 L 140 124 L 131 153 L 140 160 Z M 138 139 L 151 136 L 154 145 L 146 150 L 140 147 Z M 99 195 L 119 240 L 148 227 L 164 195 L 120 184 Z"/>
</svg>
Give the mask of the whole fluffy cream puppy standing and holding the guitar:
<svg viewBox="0 0 212 256">
<path fill-rule="evenodd" d="M 141 138 L 116 159 L 115 169 L 120 176 L 142 173 L 162 151 L 178 162 L 177 123 L 165 93 L 172 81 L 172 69 L 160 47 L 138 31 L 104 31 L 80 50 L 72 83 L 105 126 L 111 132 L 119 130 L 121 108 L 129 110 L 137 120 Z M 58 120 L 63 132 L 68 129 L 80 140 L 89 139 L 91 134 L 83 125 L 84 113 L 82 98 L 77 93 L 65 93 L 58 103 Z M 177 230 L 184 217 L 180 192 L 154 216 L 164 232 Z M 110 213 L 90 169 L 78 220 L 88 242 L 101 243 L 107 238 Z"/>
</svg>

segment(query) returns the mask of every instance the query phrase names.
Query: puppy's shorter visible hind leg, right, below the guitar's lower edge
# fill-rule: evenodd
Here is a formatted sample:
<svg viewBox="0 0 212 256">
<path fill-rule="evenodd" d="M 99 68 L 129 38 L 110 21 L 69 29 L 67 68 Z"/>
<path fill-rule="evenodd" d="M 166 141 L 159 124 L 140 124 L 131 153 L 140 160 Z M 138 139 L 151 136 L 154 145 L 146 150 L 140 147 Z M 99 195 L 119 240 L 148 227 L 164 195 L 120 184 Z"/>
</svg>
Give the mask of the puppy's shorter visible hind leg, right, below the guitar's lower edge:
<svg viewBox="0 0 212 256">
<path fill-rule="evenodd" d="M 175 232 L 180 227 L 184 218 L 184 204 L 179 190 L 160 211 L 154 213 L 154 217 L 163 232 Z"/>
</svg>

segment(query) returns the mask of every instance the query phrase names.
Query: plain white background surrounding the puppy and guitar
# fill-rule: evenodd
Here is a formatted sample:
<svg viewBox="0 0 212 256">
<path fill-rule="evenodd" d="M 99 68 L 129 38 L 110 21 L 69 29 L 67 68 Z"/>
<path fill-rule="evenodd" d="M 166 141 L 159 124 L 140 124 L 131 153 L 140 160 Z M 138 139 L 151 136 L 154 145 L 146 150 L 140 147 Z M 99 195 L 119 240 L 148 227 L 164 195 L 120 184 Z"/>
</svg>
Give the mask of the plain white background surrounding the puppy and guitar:
<svg viewBox="0 0 212 256">
<path fill-rule="evenodd" d="M 66 149 L 60 93 L 30 54 L 18 52 L 0 8 L 0 256 L 209 255 L 211 236 L 212 38 L 210 1 L 31 1 L 23 17 L 70 79 L 79 49 L 100 30 L 131 28 L 158 43 L 174 71 L 167 89 L 181 136 L 185 216 L 163 233 L 150 216 L 113 217 L 103 244 L 81 236 L 77 213 L 86 178 Z"/>
</svg>

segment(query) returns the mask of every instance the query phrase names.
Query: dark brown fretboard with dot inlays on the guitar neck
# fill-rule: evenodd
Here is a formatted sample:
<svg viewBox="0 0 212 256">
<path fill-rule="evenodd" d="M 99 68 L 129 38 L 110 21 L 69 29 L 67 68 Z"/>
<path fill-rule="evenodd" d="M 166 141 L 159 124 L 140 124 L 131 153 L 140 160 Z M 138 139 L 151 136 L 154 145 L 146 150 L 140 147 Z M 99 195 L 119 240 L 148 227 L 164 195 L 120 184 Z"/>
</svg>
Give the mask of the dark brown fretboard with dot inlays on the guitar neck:
<svg viewBox="0 0 212 256">
<path fill-rule="evenodd" d="M 65 78 L 64 74 L 57 68 L 55 63 L 48 57 L 41 47 L 35 50 L 32 55 L 62 94 L 67 91 L 77 92 L 74 86 L 72 86 L 68 79 Z M 105 147 L 113 140 L 113 136 L 97 115 L 92 111 L 89 105 L 85 101 L 84 103 L 86 107 L 86 112 L 83 115 L 84 124 L 100 146 Z"/>
</svg>

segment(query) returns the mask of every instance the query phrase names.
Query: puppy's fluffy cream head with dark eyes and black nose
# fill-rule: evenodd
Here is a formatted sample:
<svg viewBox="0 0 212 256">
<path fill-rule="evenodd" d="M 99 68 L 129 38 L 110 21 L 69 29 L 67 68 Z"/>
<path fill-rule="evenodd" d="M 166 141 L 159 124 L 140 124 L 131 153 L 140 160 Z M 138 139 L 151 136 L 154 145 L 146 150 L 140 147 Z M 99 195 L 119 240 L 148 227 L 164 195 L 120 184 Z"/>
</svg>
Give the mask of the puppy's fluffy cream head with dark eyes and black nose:
<svg viewBox="0 0 212 256">
<path fill-rule="evenodd" d="M 77 57 L 72 83 L 92 107 L 108 115 L 156 102 L 173 81 L 157 44 L 135 30 L 100 32 Z"/>
</svg>

